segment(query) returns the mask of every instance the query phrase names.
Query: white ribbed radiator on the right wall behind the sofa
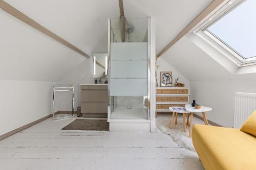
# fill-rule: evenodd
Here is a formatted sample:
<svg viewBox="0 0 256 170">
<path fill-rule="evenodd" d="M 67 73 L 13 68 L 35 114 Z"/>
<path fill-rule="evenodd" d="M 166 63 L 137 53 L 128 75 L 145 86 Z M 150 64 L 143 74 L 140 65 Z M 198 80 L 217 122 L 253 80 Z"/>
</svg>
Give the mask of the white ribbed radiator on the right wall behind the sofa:
<svg viewBox="0 0 256 170">
<path fill-rule="evenodd" d="M 245 120 L 256 110 L 255 93 L 234 93 L 234 128 L 241 128 Z"/>
</svg>

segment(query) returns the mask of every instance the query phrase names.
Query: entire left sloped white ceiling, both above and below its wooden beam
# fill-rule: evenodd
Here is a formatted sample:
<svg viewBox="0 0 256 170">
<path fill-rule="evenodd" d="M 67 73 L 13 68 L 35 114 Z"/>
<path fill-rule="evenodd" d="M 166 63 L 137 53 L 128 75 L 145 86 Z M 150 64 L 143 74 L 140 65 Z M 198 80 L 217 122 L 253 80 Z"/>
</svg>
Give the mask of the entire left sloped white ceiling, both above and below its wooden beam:
<svg viewBox="0 0 256 170">
<path fill-rule="evenodd" d="M 6 0 L 40 25 L 90 55 L 107 39 L 118 1 Z M 0 80 L 58 81 L 88 60 L 0 9 Z"/>
</svg>

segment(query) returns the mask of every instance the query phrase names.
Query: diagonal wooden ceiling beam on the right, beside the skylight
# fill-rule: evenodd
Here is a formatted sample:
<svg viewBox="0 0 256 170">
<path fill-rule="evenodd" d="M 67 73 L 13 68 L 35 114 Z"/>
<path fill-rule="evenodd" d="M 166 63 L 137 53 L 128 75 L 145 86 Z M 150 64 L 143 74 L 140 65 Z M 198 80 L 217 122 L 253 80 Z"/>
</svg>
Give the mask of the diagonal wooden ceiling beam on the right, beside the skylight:
<svg viewBox="0 0 256 170">
<path fill-rule="evenodd" d="M 193 19 L 170 43 L 168 43 L 163 50 L 157 55 L 157 58 L 163 55 L 170 47 L 178 42 L 186 33 L 196 27 L 207 15 L 214 11 L 217 7 L 223 4 L 226 0 L 215 0 L 210 3 L 195 19 Z"/>
</svg>

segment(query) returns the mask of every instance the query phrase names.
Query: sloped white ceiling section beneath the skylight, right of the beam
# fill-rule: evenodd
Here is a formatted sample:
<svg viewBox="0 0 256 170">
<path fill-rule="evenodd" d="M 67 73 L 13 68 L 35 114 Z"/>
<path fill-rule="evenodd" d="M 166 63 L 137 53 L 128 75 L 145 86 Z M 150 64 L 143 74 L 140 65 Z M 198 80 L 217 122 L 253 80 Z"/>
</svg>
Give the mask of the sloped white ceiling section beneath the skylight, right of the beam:
<svg viewBox="0 0 256 170">
<path fill-rule="evenodd" d="M 248 80 L 255 79 L 256 76 L 256 74 L 231 74 L 186 36 L 161 57 L 191 81 Z"/>
</svg>

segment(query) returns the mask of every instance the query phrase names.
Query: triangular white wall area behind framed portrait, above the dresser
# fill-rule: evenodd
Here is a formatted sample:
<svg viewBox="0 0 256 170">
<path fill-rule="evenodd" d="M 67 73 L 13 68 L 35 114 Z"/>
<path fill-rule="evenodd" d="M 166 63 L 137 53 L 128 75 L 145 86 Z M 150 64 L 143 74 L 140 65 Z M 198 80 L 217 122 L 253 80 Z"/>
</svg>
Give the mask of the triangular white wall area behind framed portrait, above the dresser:
<svg viewBox="0 0 256 170">
<path fill-rule="evenodd" d="M 157 70 L 157 82 L 158 86 L 160 86 L 160 72 L 161 71 L 172 71 L 173 73 L 173 84 L 175 83 L 175 78 L 179 78 L 178 82 L 184 83 L 186 87 L 190 86 L 190 82 L 187 78 L 185 78 L 177 69 L 175 69 L 172 65 L 168 64 L 163 57 L 159 57 L 157 59 L 157 65 L 159 65 Z"/>
</svg>

